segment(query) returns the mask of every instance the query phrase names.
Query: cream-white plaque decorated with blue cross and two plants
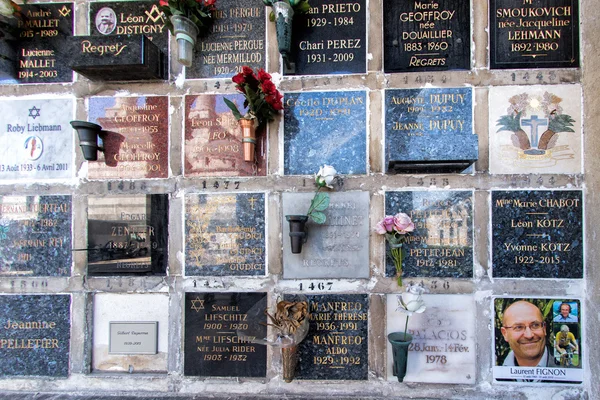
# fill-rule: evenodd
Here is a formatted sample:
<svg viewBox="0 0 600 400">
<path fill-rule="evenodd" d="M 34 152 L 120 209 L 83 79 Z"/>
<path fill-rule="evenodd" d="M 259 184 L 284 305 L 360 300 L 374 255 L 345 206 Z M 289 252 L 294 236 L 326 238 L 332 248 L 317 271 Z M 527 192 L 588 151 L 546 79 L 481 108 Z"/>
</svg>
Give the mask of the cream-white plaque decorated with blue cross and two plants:
<svg viewBox="0 0 600 400">
<path fill-rule="evenodd" d="M 581 173 L 580 85 L 493 87 L 489 110 L 490 173 Z"/>
</svg>

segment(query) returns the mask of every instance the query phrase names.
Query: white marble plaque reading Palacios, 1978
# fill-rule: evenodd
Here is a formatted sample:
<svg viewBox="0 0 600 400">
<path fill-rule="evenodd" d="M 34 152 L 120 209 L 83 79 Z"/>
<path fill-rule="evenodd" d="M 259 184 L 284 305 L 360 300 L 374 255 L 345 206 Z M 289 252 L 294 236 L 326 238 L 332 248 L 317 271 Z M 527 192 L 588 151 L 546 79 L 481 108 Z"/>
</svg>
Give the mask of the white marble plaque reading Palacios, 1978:
<svg viewBox="0 0 600 400">
<path fill-rule="evenodd" d="M 470 295 L 423 295 L 427 309 L 408 320 L 413 335 L 404 382 L 474 384 L 475 301 Z M 398 295 L 387 295 L 387 333 L 404 332 L 406 314 L 396 311 Z M 386 335 L 387 340 L 387 335 Z M 387 378 L 392 374 L 387 343 Z"/>
</svg>

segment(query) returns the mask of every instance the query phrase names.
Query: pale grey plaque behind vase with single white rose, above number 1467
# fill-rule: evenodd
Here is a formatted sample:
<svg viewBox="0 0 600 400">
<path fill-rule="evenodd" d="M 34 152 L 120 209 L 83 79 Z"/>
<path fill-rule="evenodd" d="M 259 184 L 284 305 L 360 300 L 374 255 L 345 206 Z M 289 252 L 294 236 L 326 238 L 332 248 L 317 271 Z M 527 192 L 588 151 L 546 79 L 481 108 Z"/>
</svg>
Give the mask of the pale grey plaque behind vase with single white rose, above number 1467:
<svg viewBox="0 0 600 400">
<path fill-rule="evenodd" d="M 283 277 L 368 278 L 369 193 L 333 192 L 324 224 L 309 220 L 307 242 L 292 254 L 286 215 L 306 214 L 314 193 L 283 193 Z"/>
</svg>

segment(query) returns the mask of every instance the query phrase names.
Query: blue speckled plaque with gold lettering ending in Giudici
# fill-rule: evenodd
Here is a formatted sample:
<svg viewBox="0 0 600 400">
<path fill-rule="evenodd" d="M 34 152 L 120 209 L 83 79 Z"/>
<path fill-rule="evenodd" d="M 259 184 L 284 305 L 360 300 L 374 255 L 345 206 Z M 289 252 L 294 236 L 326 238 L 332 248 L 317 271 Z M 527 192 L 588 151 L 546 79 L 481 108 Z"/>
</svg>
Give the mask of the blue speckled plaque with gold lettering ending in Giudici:
<svg viewBox="0 0 600 400">
<path fill-rule="evenodd" d="M 185 234 L 186 275 L 265 275 L 264 193 L 187 195 Z"/>
</svg>

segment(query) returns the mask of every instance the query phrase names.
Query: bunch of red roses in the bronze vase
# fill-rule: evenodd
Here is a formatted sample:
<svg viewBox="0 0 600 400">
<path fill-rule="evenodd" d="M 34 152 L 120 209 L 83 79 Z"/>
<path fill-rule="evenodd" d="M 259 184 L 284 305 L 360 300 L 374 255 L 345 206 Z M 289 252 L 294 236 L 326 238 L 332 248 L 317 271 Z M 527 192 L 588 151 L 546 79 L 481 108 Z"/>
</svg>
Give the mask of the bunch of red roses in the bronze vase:
<svg viewBox="0 0 600 400">
<path fill-rule="evenodd" d="M 238 121 L 242 118 L 256 119 L 257 126 L 260 127 L 273 121 L 279 111 L 283 110 L 283 96 L 275 87 L 271 75 L 263 69 L 254 73 L 252 68 L 244 66 L 242 72 L 231 80 L 236 84 L 235 88 L 245 96 L 244 108 L 248 108 L 248 112 L 242 115 L 232 101 L 224 99 Z"/>
</svg>

